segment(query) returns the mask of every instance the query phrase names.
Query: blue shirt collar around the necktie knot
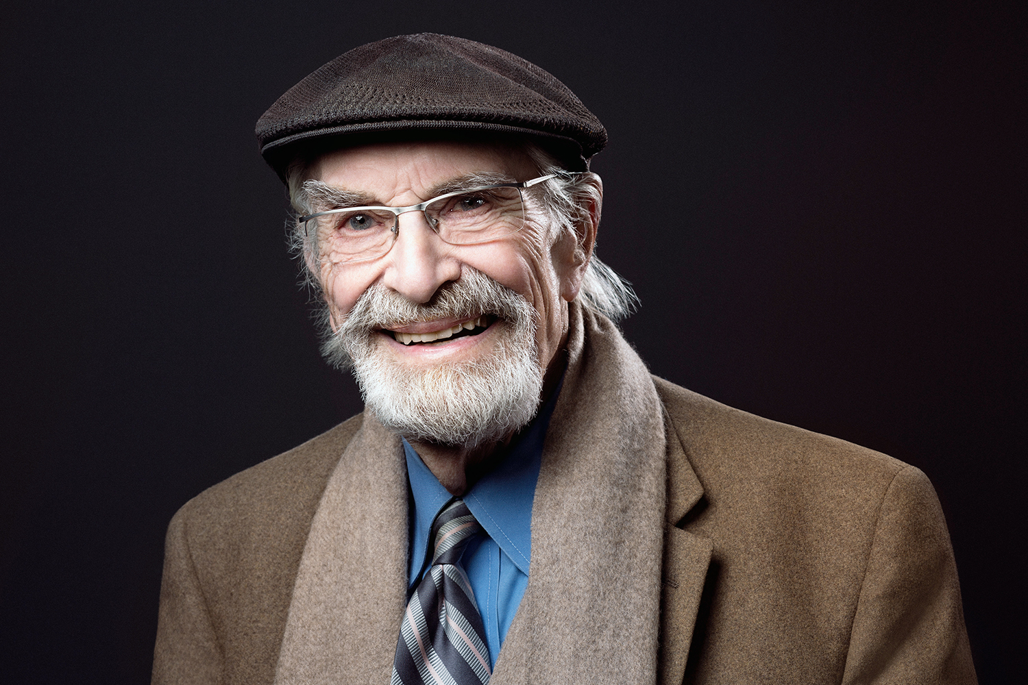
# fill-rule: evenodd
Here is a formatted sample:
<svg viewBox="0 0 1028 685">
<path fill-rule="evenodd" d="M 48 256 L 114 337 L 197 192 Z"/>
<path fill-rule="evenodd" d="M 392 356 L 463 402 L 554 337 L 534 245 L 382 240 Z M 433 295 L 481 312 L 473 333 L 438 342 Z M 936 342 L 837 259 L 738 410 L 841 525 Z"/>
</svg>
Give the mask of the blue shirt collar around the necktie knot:
<svg viewBox="0 0 1028 685">
<path fill-rule="evenodd" d="M 465 503 L 485 532 L 525 575 L 531 559 L 531 504 L 542 463 L 543 442 L 562 385 L 563 379 L 536 418 L 514 439 L 510 453 L 500 465 L 483 475 L 464 496 Z M 428 547 L 432 522 L 452 495 L 406 440 L 403 452 L 413 495 L 410 578 L 415 580 L 427 561 L 423 553 Z"/>
</svg>

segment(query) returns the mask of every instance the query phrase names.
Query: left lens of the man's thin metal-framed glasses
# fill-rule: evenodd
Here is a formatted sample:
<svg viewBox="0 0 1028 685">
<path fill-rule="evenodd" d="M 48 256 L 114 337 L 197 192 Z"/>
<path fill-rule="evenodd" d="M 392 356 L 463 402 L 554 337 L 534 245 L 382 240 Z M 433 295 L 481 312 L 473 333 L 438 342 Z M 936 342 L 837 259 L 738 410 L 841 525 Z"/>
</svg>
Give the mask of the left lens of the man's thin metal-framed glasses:
<svg viewBox="0 0 1028 685">
<path fill-rule="evenodd" d="M 373 259 L 389 250 L 396 216 L 391 212 L 354 207 L 315 217 L 307 230 L 317 230 L 323 255 L 335 262 Z"/>
</svg>

